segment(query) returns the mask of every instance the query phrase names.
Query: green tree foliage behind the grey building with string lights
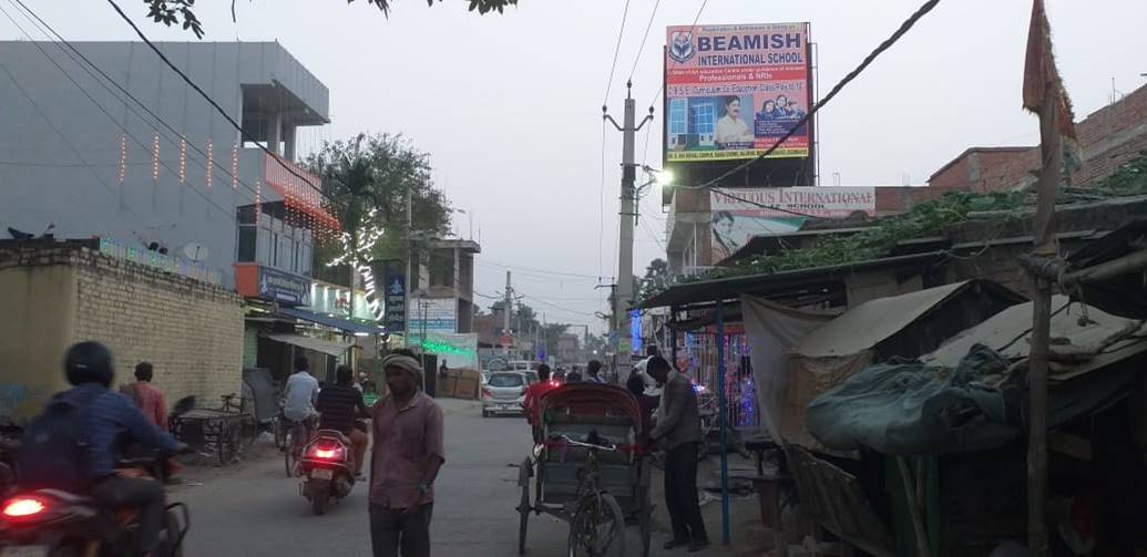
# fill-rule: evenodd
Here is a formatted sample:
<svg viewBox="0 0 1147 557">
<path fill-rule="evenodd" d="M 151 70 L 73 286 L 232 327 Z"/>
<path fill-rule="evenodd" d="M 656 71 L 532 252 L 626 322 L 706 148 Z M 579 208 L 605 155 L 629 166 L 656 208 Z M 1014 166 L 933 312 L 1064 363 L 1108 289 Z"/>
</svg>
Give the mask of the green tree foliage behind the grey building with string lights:
<svg viewBox="0 0 1147 557">
<path fill-rule="evenodd" d="M 406 196 L 411 196 L 416 233 L 444 236 L 451 207 L 430 179 L 428 154 L 401 135 L 358 134 L 329 141 L 306 158 L 304 166 L 322 179 L 327 209 L 348 234 L 364 228 L 383 232 L 370 259 L 404 259 L 407 249 Z M 320 264 L 336 257 L 341 246 L 322 246 Z"/>
</svg>

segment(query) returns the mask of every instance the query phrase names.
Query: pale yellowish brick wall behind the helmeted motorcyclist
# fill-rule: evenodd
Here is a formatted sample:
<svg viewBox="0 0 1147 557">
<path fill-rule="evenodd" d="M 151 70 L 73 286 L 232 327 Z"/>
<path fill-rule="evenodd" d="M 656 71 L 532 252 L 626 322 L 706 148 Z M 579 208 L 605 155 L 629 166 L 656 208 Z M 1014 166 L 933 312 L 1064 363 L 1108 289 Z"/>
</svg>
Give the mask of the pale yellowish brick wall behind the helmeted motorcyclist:
<svg viewBox="0 0 1147 557">
<path fill-rule="evenodd" d="M 75 259 L 73 340 L 100 340 L 115 353 L 117 383 L 155 366 L 167 405 L 195 395 L 218 406 L 239 393 L 243 362 L 242 299 L 223 288 L 81 250 Z"/>
</svg>

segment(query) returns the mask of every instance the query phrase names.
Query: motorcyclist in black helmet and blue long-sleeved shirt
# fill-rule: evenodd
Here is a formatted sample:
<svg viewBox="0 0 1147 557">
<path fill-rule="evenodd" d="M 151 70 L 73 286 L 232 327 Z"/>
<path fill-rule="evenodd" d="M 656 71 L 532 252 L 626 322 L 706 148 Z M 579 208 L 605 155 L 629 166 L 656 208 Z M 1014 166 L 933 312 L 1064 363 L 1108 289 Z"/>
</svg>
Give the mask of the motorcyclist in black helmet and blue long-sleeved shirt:
<svg viewBox="0 0 1147 557">
<path fill-rule="evenodd" d="M 120 441 L 128 436 L 146 448 L 171 454 L 186 446 L 156 427 L 130 399 L 110 389 L 115 362 L 107 346 L 95 342 L 73 345 L 64 359 L 64 371 L 75 386 L 60 397 L 87 400 L 80 437 L 87 444 L 91 495 L 111 509 L 136 509 L 138 555 L 151 555 L 164 520 L 163 484 L 117 474 Z"/>
</svg>

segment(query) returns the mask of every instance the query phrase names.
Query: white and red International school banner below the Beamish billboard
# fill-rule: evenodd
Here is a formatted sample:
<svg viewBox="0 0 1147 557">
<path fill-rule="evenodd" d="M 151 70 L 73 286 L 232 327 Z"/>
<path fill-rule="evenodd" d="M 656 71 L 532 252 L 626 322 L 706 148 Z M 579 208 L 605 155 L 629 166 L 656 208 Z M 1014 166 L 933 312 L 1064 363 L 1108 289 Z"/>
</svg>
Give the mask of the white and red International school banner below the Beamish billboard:
<svg viewBox="0 0 1147 557">
<path fill-rule="evenodd" d="M 790 234 L 799 230 L 809 218 L 844 219 L 857 212 L 875 217 L 876 188 L 755 188 L 727 194 L 713 190 L 709 193 L 709 209 L 712 261 L 717 262 L 754 236 Z"/>
</svg>

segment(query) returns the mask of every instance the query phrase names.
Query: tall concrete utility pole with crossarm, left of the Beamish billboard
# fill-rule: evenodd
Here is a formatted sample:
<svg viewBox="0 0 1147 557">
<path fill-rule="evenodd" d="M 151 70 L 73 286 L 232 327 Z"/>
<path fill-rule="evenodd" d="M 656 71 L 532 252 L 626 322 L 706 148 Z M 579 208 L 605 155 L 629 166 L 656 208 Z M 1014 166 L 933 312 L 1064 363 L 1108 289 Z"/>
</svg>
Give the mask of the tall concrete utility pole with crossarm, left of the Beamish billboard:
<svg viewBox="0 0 1147 557">
<path fill-rule="evenodd" d="M 614 355 L 614 374 L 617 381 L 630 375 L 633 337 L 630 329 L 630 306 L 633 303 L 633 228 L 637 226 L 637 176 L 634 136 L 653 119 L 653 107 L 640 124 L 637 121 L 637 101 L 633 100 L 633 81 L 625 84 L 625 115 L 623 125 L 609 116 L 609 108 L 601 107 L 602 118 L 622 132 L 622 209 L 618 214 L 617 290 L 614 296 L 614 323 L 617 332 L 617 352 Z"/>
</svg>

